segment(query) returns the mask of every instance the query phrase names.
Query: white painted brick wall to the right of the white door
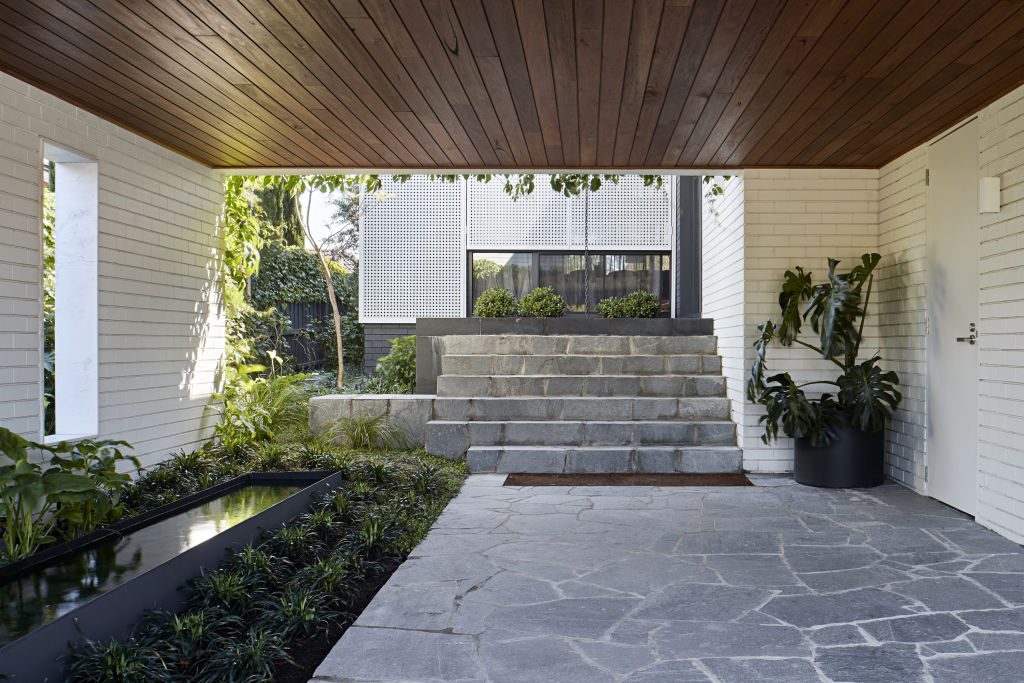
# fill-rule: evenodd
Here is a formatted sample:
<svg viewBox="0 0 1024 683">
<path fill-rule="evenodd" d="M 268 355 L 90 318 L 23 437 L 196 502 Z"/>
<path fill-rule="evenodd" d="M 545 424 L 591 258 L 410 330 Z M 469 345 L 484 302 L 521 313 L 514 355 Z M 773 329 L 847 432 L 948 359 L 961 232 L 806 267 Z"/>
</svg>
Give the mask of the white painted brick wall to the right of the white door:
<svg viewBox="0 0 1024 683">
<path fill-rule="evenodd" d="M 978 115 L 981 176 L 1001 210 L 980 215 L 977 520 L 1024 543 L 1024 87 Z"/>
</svg>

